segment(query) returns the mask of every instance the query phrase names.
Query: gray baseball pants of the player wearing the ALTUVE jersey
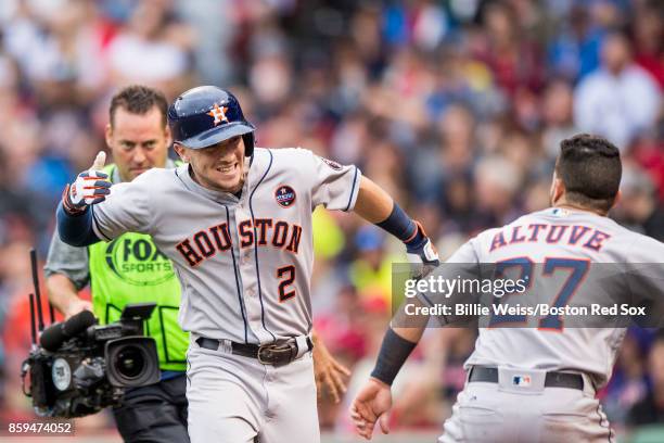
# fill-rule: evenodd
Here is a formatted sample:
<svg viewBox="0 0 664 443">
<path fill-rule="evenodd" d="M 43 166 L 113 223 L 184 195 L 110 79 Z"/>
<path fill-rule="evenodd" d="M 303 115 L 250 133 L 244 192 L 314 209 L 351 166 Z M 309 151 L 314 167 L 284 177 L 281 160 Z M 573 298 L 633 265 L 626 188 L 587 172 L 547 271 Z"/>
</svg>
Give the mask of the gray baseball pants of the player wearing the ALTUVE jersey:
<svg viewBox="0 0 664 443">
<path fill-rule="evenodd" d="M 468 382 L 439 443 L 610 443 L 613 431 L 587 376 L 584 390 L 545 388 L 541 371 L 499 369 L 500 381 Z M 526 379 L 527 377 L 527 379 Z M 518 385 L 514 380 L 520 380 Z M 527 380 L 528 383 L 524 383 Z M 527 385 L 525 385 L 527 384 Z"/>
</svg>

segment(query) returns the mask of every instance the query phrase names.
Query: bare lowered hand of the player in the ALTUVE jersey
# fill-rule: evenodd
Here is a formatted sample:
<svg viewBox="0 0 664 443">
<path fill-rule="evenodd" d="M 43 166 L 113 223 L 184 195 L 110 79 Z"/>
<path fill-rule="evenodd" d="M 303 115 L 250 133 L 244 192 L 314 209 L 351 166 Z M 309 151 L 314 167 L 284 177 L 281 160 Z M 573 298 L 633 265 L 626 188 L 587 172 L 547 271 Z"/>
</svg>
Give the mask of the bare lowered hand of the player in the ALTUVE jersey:
<svg viewBox="0 0 664 443">
<path fill-rule="evenodd" d="M 350 406 L 350 418 L 357 432 L 371 440 L 373 428 L 379 421 L 381 431 L 390 433 L 387 412 L 392 407 L 392 391 L 382 381 L 369 379 Z"/>
</svg>

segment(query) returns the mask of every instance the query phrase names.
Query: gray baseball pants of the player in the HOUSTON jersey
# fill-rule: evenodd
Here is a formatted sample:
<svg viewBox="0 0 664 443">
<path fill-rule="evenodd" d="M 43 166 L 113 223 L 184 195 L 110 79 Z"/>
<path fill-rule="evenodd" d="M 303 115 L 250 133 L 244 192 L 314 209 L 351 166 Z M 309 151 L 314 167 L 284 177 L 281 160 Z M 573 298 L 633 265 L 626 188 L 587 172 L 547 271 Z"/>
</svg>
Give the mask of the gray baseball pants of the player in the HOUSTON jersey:
<svg viewBox="0 0 664 443">
<path fill-rule="evenodd" d="M 280 367 L 200 347 L 188 352 L 191 443 L 319 443 L 314 360 Z"/>
</svg>

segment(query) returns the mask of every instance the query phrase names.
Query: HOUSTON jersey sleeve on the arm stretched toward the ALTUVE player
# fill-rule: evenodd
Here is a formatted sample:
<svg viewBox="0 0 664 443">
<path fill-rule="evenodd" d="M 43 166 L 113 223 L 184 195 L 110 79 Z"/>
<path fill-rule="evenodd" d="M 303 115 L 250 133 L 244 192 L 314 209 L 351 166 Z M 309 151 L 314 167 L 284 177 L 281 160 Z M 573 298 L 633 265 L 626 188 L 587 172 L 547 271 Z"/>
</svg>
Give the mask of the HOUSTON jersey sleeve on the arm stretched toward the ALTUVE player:
<svg viewBox="0 0 664 443">
<path fill-rule="evenodd" d="M 323 205 L 328 210 L 352 211 L 357 201 L 361 173 L 355 165 L 340 165 L 314 153 L 311 155 L 311 210 Z"/>
</svg>

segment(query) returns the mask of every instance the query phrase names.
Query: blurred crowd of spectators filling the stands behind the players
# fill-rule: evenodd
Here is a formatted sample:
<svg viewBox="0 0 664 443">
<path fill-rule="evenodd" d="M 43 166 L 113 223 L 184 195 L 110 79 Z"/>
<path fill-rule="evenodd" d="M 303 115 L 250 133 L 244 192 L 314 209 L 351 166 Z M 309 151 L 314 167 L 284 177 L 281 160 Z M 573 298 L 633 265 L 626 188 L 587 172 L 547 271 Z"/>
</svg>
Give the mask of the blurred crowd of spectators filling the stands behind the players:
<svg viewBox="0 0 664 443">
<path fill-rule="evenodd" d="M 662 1 L 2 0 L 0 417 L 29 409 L 17 377 L 27 251 L 46 256 L 60 193 L 104 149 L 110 97 L 132 83 L 169 99 L 230 88 L 258 145 L 357 164 L 443 255 L 546 207 L 559 141 L 604 135 L 625 165 L 612 216 L 664 240 Z M 388 321 L 403 252 L 321 210 L 315 244 L 316 327 L 354 369 L 353 392 Z M 395 385 L 399 426 L 440 426 L 473 343 L 470 330 L 427 331 Z M 630 331 L 600 395 L 618 427 L 664 422 L 664 339 Z M 347 431 L 346 406 L 323 398 L 321 426 Z"/>
</svg>

